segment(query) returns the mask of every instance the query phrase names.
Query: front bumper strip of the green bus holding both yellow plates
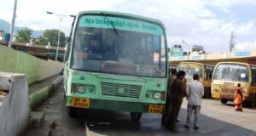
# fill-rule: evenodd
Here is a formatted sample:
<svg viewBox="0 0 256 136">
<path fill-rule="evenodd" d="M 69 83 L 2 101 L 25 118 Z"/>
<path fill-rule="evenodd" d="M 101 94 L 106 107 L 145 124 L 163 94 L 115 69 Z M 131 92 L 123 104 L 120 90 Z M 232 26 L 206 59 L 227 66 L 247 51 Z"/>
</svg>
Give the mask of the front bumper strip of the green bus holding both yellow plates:
<svg viewBox="0 0 256 136">
<path fill-rule="evenodd" d="M 66 97 L 66 105 L 69 107 L 84 109 L 99 109 L 108 111 L 127 111 L 140 113 L 162 113 L 164 109 L 164 105 L 162 104 L 127 102 L 108 99 L 85 99 L 74 97 Z"/>
</svg>

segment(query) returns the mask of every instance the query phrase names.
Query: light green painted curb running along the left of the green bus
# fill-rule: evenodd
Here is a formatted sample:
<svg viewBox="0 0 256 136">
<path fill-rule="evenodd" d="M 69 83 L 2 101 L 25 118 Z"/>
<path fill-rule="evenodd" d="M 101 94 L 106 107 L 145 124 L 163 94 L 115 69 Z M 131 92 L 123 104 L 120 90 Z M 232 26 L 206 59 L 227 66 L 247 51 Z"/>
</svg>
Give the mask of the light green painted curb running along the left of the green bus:
<svg viewBox="0 0 256 136">
<path fill-rule="evenodd" d="M 38 91 L 29 94 L 28 102 L 30 105 L 30 109 L 33 110 L 38 105 L 41 105 L 44 100 L 48 99 L 49 94 L 55 90 L 55 88 L 63 81 L 63 77 L 57 77 L 53 82 L 44 88 L 38 89 Z"/>
</svg>

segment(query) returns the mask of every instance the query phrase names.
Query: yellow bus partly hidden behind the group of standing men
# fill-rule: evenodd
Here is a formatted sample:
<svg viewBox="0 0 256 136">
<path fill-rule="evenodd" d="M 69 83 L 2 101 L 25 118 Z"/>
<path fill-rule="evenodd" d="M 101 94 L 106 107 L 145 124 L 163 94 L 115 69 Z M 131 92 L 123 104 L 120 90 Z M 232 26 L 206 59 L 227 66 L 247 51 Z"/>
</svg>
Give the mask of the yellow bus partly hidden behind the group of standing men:
<svg viewBox="0 0 256 136">
<path fill-rule="evenodd" d="M 205 98 L 211 98 L 211 83 L 212 83 L 212 72 L 214 70 L 213 65 L 205 65 L 196 62 L 181 62 L 177 65 L 177 71 L 185 71 L 186 79 L 188 82 L 193 81 L 193 75 L 196 73 L 200 77 L 200 82 L 203 84 L 205 89 Z"/>
</svg>

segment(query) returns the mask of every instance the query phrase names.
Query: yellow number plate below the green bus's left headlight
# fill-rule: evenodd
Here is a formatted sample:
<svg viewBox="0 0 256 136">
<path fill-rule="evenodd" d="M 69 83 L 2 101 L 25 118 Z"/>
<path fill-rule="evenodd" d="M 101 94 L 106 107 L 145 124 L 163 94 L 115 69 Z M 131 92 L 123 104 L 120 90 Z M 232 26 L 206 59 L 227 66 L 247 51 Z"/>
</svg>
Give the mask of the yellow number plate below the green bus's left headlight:
<svg viewBox="0 0 256 136">
<path fill-rule="evenodd" d="M 73 97 L 71 99 L 71 106 L 78 108 L 89 108 L 90 99 Z"/>
</svg>

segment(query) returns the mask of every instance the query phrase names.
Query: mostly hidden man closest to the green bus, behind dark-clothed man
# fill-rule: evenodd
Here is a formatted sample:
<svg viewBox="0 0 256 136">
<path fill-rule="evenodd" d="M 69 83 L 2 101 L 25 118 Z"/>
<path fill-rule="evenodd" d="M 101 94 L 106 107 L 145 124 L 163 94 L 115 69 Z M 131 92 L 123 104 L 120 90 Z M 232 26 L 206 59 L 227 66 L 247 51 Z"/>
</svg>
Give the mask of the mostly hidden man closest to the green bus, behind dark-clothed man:
<svg viewBox="0 0 256 136">
<path fill-rule="evenodd" d="M 170 100 L 172 98 L 171 86 L 172 86 L 172 82 L 177 77 L 177 70 L 172 69 L 171 73 L 172 73 L 172 75 L 168 78 L 168 83 L 167 83 L 166 105 L 165 105 L 165 111 L 163 112 L 162 119 L 161 119 L 162 125 L 166 125 L 167 118 L 168 118 L 167 115 L 168 115 L 170 109 L 172 109 L 171 100 Z"/>
</svg>

